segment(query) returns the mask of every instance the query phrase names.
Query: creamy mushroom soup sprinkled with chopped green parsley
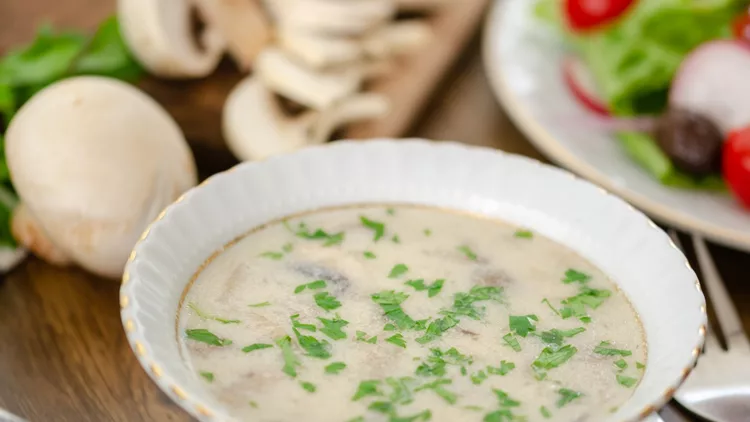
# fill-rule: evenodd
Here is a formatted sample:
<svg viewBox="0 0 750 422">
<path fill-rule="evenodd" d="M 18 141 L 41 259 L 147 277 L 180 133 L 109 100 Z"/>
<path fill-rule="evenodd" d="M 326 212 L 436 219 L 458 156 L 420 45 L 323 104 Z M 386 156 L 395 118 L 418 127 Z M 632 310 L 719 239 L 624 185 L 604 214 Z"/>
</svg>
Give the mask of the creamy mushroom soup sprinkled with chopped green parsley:
<svg viewBox="0 0 750 422">
<path fill-rule="evenodd" d="M 239 420 L 596 422 L 647 352 L 625 294 L 573 251 L 423 207 L 263 226 L 179 312 L 183 356 Z"/>
</svg>

